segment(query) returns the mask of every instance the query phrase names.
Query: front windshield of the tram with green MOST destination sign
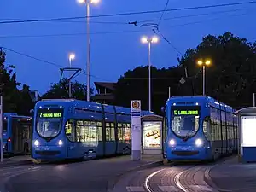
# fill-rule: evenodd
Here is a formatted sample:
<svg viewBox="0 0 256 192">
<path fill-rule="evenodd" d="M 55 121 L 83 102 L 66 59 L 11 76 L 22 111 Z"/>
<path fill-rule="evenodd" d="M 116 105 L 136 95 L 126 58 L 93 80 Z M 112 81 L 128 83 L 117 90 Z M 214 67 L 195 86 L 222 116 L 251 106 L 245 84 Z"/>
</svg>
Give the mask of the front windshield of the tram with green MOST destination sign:
<svg viewBox="0 0 256 192">
<path fill-rule="evenodd" d="M 55 137 L 61 131 L 63 109 L 38 109 L 36 128 L 41 137 Z"/>
</svg>

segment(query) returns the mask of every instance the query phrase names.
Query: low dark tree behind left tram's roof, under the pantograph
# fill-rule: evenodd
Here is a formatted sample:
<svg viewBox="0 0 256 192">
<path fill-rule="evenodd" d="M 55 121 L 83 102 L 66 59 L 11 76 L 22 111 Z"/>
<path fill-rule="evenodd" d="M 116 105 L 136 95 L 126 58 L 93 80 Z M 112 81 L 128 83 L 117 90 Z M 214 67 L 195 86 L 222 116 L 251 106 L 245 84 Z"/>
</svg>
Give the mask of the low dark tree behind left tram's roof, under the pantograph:
<svg viewBox="0 0 256 192">
<path fill-rule="evenodd" d="M 93 90 L 90 89 L 90 94 Z M 84 100 L 86 98 L 86 85 L 79 82 L 72 82 L 72 97 Z M 51 85 L 50 89 L 42 96 L 43 99 L 67 99 L 68 98 L 68 79 L 61 79 L 59 83 Z"/>
</svg>

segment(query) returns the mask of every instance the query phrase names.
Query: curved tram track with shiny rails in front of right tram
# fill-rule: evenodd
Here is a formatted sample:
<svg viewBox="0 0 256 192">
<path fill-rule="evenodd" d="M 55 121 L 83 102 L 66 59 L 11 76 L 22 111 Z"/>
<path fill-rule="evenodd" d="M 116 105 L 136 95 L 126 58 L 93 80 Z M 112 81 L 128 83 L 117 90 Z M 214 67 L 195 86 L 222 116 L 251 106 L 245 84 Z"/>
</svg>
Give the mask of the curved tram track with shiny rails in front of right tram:
<svg viewBox="0 0 256 192">
<path fill-rule="evenodd" d="M 119 179 L 113 192 L 216 192 L 205 182 L 212 164 L 168 164 L 131 172 Z"/>
</svg>

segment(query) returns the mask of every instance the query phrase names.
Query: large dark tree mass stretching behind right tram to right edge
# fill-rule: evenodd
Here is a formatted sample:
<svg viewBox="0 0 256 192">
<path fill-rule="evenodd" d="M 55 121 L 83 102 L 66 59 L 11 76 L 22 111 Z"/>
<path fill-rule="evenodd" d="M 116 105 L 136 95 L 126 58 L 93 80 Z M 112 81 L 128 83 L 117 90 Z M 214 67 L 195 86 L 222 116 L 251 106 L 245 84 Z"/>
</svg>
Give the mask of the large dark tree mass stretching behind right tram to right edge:
<svg viewBox="0 0 256 192">
<path fill-rule="evenodd" d="M 206 68 L 206 93 L 234 108 L 253 104 L 256 92 L 256 43 L 238 38 L 226 32 L 221 36 L 208 35 L 196 49 L 187 49 L 178 58 L 177 67 L 157 69 L 152 67 L 152 106 L 160 113 L 160 107 L 168 99 L 168 87 L 174 95 L 201 95 L 202 73 L 196 61 L 210 58 L 212 65 Z M 185 79 L 181 84 L 179 80 Z M 148 67 L 137 67 L 121 76 L 115 91 L 116 104 L 130 107 L 132 99 L 140 99 L 143 109 L 148 109 Z"/>
</svg>

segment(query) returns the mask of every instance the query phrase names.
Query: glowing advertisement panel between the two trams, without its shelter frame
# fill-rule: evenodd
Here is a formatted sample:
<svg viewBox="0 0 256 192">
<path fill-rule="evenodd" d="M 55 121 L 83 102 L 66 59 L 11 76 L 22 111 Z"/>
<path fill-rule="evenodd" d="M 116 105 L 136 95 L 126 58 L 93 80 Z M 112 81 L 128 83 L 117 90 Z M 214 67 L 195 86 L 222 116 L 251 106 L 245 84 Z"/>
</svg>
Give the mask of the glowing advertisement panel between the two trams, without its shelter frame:
<svg viewBox="0 0 256 192">
<path fill-rule="evenodd" d="M 161 121 L 143 122 L 143 148 L 161 149 Z"/>
</svg>

